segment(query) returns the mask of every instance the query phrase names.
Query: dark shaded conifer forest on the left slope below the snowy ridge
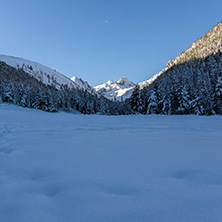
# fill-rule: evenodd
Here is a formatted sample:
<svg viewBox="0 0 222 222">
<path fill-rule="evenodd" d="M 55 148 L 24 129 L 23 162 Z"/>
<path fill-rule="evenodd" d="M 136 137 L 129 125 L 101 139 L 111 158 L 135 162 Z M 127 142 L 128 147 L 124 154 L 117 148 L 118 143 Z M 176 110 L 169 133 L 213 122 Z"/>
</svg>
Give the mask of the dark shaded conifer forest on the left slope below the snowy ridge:
<svg viewBox="0 0 222 222">
<path fill-rule="evenodd" d="M 47 112 L 62 110 L 84 114 L 123 114 L 121 103 L 67 85 L 61 85 L 58 90 L 43 84 L 23 69 L 15 69 L 4 62 L 0 62 L 0 101 Z"/>
</svg>

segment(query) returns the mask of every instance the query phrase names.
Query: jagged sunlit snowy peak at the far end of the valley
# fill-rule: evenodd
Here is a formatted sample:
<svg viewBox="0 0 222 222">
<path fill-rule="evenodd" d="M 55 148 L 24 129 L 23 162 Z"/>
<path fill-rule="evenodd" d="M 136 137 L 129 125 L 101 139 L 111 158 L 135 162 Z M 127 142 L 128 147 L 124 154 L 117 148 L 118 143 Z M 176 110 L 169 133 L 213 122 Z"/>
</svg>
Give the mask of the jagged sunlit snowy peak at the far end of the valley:
<svg viewBox="0 0 222 222">
<path fill-rule="evenodd" d="M 95 86 L 94 89 L 109 100 L 124 101 L 132 95 L 134 86 L 133 82 L 122 77 L 118 81 L 109 80 L 102 85 Z"/>
</svg>

